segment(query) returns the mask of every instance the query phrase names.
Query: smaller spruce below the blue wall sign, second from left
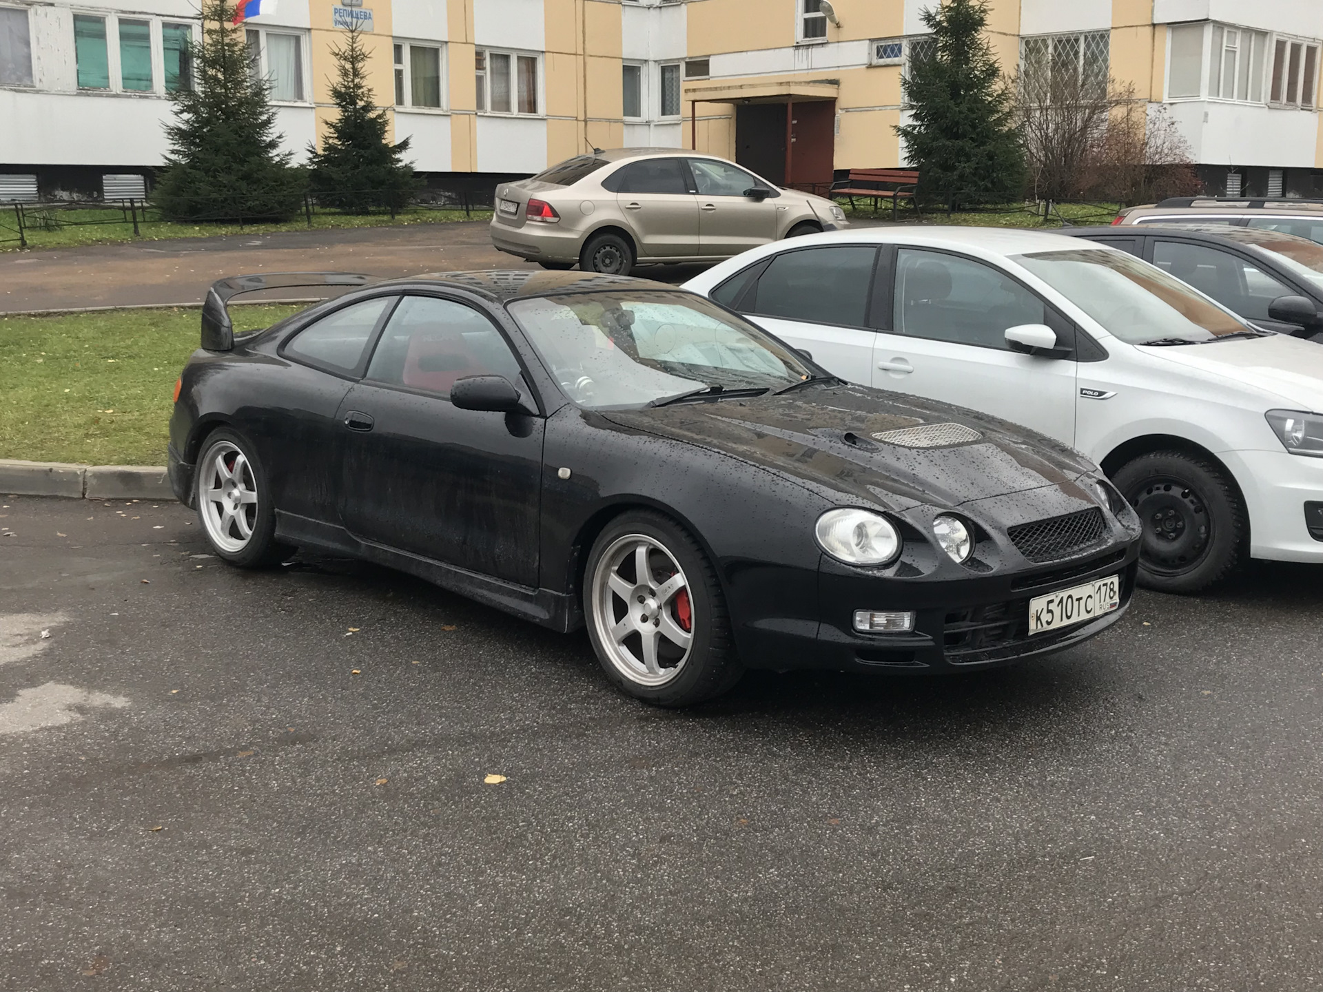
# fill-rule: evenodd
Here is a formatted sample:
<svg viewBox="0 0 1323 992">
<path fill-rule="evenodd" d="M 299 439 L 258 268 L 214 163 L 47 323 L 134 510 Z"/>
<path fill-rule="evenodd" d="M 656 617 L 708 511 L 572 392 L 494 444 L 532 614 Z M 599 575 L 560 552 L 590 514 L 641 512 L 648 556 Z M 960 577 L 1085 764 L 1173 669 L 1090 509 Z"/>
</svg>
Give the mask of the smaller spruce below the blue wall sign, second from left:
<svg viewBox="0 0 1323 992">
<path fill-rule="evenodd" d="M 325 206 L 345 210 L 401 209 L 421 185 L 413 167 L 404 161 L 409 139 L 398 144 L 386 140 L 390 122 L 386 111 L 372 102 L 368 86 L 368 57 L 363 29 L 345 30 L 343 45 L 331 49 L 336 78 L 331 99 L 340 114 L 327 122 L 321 151 L 308 149 L 312 172 L 310 186 Z"/>
</svg>

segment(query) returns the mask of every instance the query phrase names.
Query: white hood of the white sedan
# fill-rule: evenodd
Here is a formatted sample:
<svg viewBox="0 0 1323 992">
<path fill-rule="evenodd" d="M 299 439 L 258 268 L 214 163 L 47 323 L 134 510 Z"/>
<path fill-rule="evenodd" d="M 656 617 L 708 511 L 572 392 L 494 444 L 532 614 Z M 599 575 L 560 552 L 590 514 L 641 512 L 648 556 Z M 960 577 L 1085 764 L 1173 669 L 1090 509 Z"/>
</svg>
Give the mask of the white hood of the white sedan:
<svg viewBox="0 0 1323 992">
<path fill-rule="evenodd" d="M 1323 347 L 1314 341 L 1273 335 L 1144 351 L 1176 365 L 1271 393 L 1295 407 L 1323 410 Z"/>
</svg>

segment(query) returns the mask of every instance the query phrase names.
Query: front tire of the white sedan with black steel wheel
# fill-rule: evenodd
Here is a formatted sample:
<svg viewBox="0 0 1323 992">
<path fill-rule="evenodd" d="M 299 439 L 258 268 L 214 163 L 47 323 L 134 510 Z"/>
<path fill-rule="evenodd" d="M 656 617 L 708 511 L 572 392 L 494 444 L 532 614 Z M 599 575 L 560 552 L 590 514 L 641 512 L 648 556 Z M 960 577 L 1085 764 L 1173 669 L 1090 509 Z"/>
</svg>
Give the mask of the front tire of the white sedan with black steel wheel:
<svg viewBox="0 0 1323 992">
<path fill-rule="evenodd" d="M 1113 483 L 1143 526 L 1139 585 L 1199 593 L 1244 561 L 1245 504 L 1212 462 L 1181 451 L 1151 451 L 1122 466 Z"/>
</svg>

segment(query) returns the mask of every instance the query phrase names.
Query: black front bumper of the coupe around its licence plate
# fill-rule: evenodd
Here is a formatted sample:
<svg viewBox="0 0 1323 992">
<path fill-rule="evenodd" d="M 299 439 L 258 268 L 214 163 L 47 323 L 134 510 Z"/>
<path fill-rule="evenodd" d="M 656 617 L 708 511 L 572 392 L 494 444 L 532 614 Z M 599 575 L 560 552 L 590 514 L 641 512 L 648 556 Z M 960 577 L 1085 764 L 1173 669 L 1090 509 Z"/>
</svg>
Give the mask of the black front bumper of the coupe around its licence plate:
<svg viewBox="0 0 1323 992">
<path fill-rule="evenodd" d="M 826 565 L 819 573 L 816 630 L 753 624 L 741 631 L 745 664 L 758 668 L 835 668 L 951 673 L 995 668 L 1074 647 L 1110 627 L 1130 606 L 1139 542 L 1049 566 L 957 582 L 878 581 Z M 1121 607 L 1095 620 L 1029 635 L 1029 599 L 1121 575 Z M 913 634 L 857 634 L 855 610 L 913 610 Z"/>
</svg>

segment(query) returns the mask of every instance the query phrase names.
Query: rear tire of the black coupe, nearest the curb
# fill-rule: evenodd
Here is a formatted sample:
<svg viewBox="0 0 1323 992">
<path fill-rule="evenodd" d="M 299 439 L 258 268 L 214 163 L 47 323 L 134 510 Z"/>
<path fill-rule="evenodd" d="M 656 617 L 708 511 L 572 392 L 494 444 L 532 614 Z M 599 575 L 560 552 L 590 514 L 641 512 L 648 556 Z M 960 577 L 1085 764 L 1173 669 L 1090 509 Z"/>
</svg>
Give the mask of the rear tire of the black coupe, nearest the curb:
<svg viewBox="0 0 1323 992">
<path fill-rule="evenodd" d="M 235 484 L 235 488 L 253 492 L 257 501 L 253 504 L 233 504 L 235 509 L 234 517 L 242 512 L 243 524 L 241 526 L 237 518 L 232 518 L 224 526 L 224 534 L 218 534 L 218 521 L 224 520 L 224 513 L 217 509 L 213 517 L 212 511 L 224 504 L 209 500 L 206 492 L 218 481 L 214 468 L 216 459 L 228 459 L 228 467 L 233 471 L 238 460 L 230 456 L 235 452 L 246 463 L 246 471 L 242 467 L 239 468 L 237 476 L 239 481 Z M 221 488 L 224 488 L 224 480 L 220 481 Z M 221 427 L 208 435 L 202 443 L 201 456 L 197 459 L 197 470 L 193 474 L 193 497 L 197 505 L 197 518 L 202 525 L 202 534 L 206 537 L 206 542 L 212 546 L 216 557 L 222 561 L 241 569 L 265 569 L 279 565 L 291 553 L 292 549 L 290 546 L 279 544 L 275 540 L 275 507 L 271 505 L 271 488 L 267 484 L 266 470 L 258 460 L 253 443 L 238 431 Z M 242 536 L 243 529 L 249 532 L 246 538 Z M 232 544 L 226 545 L 224 542 L 226 538 Z M 234 546 L 239 542 L 242 542 L 241 546 Z"/>
</svg>

